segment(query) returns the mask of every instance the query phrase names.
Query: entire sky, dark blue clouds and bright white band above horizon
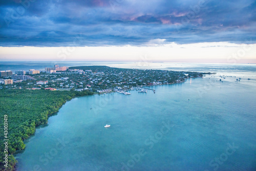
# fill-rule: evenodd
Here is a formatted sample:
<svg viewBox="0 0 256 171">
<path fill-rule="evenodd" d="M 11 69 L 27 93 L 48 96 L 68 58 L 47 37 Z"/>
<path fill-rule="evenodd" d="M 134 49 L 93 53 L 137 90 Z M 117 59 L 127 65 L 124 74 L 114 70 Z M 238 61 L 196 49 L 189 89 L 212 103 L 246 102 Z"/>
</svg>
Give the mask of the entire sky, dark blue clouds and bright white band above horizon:
<svg viewBox="0 0 256 171">
<path fill-rule="evenodd" d="M 256 1 L 0 0 L 0 61 L 256 63 Z"/>
</svg>

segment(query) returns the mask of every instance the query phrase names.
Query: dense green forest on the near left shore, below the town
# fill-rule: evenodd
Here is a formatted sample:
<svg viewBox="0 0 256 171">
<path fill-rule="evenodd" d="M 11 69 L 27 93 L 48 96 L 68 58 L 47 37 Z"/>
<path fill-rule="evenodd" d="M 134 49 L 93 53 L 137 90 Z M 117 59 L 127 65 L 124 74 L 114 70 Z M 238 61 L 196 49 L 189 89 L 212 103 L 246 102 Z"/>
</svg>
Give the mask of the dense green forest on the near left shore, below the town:
<svg viewBox="0 0 256 171">
<path fill-rule="evenodd" d="M 92 94 L 89 91 L 0 90 L 0 169 L 15 170 L 17 161 L 13 154 L 25 148 L 24 140 L 34 135 L 36 126 L 46 124 L 49 115 L 72 98 Z M 8 134 L 4 132 L 5 121 L 8 121 Z M 4 163 L 4 139 L 8 139 L 8 167 Z"/>
</svg>

